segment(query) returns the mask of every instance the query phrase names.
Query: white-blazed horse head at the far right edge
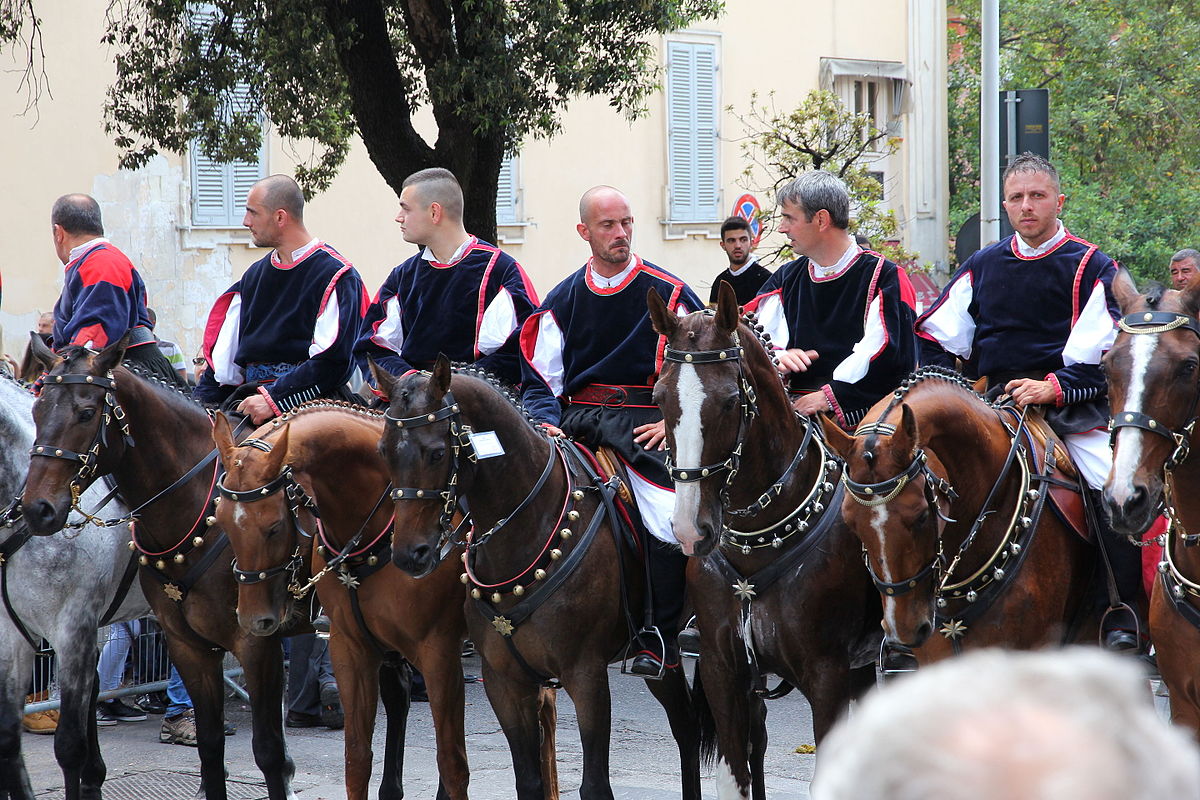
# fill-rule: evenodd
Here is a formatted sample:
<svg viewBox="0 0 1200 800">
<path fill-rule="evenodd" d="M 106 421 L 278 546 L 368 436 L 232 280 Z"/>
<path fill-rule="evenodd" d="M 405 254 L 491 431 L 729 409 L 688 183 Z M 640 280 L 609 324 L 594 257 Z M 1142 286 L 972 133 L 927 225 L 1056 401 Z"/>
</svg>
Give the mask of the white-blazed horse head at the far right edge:
<svg viewBox="0 0 1200 800">
<path fill-rule="evenodd" d="M 1112 282 L 1121 324 L 1103 366 L 1112 414 L 1112 469 L 1104 509 L 1136 535 L 1163 503 L 1164 469 L 1187 455 L 1200 399 L 1200 279 L 1142 295 L 1122 270 Z"/>
</svg>

